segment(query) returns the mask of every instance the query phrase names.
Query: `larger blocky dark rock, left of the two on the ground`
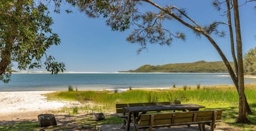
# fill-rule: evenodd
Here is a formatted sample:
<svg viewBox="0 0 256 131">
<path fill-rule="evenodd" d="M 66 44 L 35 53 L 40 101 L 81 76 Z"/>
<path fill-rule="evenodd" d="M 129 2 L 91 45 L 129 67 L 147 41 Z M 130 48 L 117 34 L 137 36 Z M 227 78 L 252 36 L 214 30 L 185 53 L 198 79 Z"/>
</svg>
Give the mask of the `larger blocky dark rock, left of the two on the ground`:
<svg viewBox="0 0 256 131">
<path fill-rule="evenodd" d="M 40 127 L 56 126 L 57 122 L 53 114 L 38 115 L 38 123 Z"/>
</svg>

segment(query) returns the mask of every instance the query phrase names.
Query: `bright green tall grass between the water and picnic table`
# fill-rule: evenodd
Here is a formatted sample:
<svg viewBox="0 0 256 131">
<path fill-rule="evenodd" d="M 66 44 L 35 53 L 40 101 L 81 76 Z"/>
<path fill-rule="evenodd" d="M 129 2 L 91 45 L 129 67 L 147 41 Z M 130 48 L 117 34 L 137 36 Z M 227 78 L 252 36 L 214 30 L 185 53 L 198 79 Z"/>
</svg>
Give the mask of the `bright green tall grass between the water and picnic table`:
<svg viewBox="0 0 256 131">
<path fill-rule="evenodd" d="M 255 112 L 256 94 L 255 85 L 246 85 L 246 97 L 251 109 Z M 52 97 L 54 96 L 54 97 Z M 66 100 L 88 100 L 99 103 L 108 111 L 115 112 L 116 103 L 135 102 L 156 102 L 180 100 L 182 103 L 195 103 L 204 105 L 207 109 L 223 109 L 223 122 L 226 125 L 241 128 L 242 130 L 256 130 L 251 125 L 236 124 L 238 116 L 238 93 L 236 89 L 229 85 L 204 86 L 204 88 L 191 87 L 190 90 L 175 88 L 170 90 L 129 90 L 122 93 L 110 91 L 78 91 L 78 92 L 57 92 L 49 98 Z M 103 109 L 103 110 L 105 110 Z M 252 123 L 256 123 L 256 116 L 249 115 Z"/>
</svg>

